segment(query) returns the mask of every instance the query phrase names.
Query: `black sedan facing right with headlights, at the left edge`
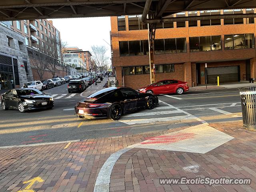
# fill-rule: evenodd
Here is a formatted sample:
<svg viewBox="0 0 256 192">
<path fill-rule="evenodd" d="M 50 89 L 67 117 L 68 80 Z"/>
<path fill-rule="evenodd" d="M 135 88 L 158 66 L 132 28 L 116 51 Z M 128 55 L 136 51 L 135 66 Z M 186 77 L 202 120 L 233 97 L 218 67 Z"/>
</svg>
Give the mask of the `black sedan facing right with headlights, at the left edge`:
<svg viewBox="0 0 256 192">
<path fill-rule="evenodd" d="M 1 102 L 3 110 L 18 109 L 20 112 L 40 108 L 51 109 L 54 106 L 51 96 L 33 88 L 8 90 L 2 95 Z"/>
</svg>

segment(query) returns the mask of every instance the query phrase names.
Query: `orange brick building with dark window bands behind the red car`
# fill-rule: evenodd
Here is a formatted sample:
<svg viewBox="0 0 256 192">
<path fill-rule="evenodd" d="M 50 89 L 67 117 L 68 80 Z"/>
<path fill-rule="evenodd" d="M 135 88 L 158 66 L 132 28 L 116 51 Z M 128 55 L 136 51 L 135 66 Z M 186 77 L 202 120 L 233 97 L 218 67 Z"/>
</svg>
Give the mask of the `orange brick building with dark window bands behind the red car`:
<svg viewBox="0 0 256 192">
<path fill-rule="evenodd" d="M 254 13 L 254 9 L 181 12 L 168 17 Z M 178 79 L 189 86 L 238 82 L 256 77 L 254 18 L 157 24 L 155 80 Z M 140 16 L 111 17 L 112 65 L 122 86 L 150 84 L 148 30 Z"/>
</svg>

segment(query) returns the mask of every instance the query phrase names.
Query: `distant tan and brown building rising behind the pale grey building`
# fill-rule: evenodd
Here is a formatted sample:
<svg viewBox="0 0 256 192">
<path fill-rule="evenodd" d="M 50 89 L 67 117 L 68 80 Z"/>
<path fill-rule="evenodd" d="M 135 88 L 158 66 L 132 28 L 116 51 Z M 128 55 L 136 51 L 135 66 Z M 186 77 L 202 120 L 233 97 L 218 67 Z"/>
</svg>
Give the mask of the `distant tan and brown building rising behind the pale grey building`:
<svg viewBox="0 0 256 192">
<path fill-rule="evenodd" d="M 83 51 L 82 49 L 79 49 L 78 47 L 66 47 L 64 48 L 65 53 L 76 53 L 78 56 L 82 59 L 82 61 L 85 63 L 87 71 L 92 68 L 92 62 L 91 62 L 91 56 L 92 54 L 90 51 Z"/>
</svg>

